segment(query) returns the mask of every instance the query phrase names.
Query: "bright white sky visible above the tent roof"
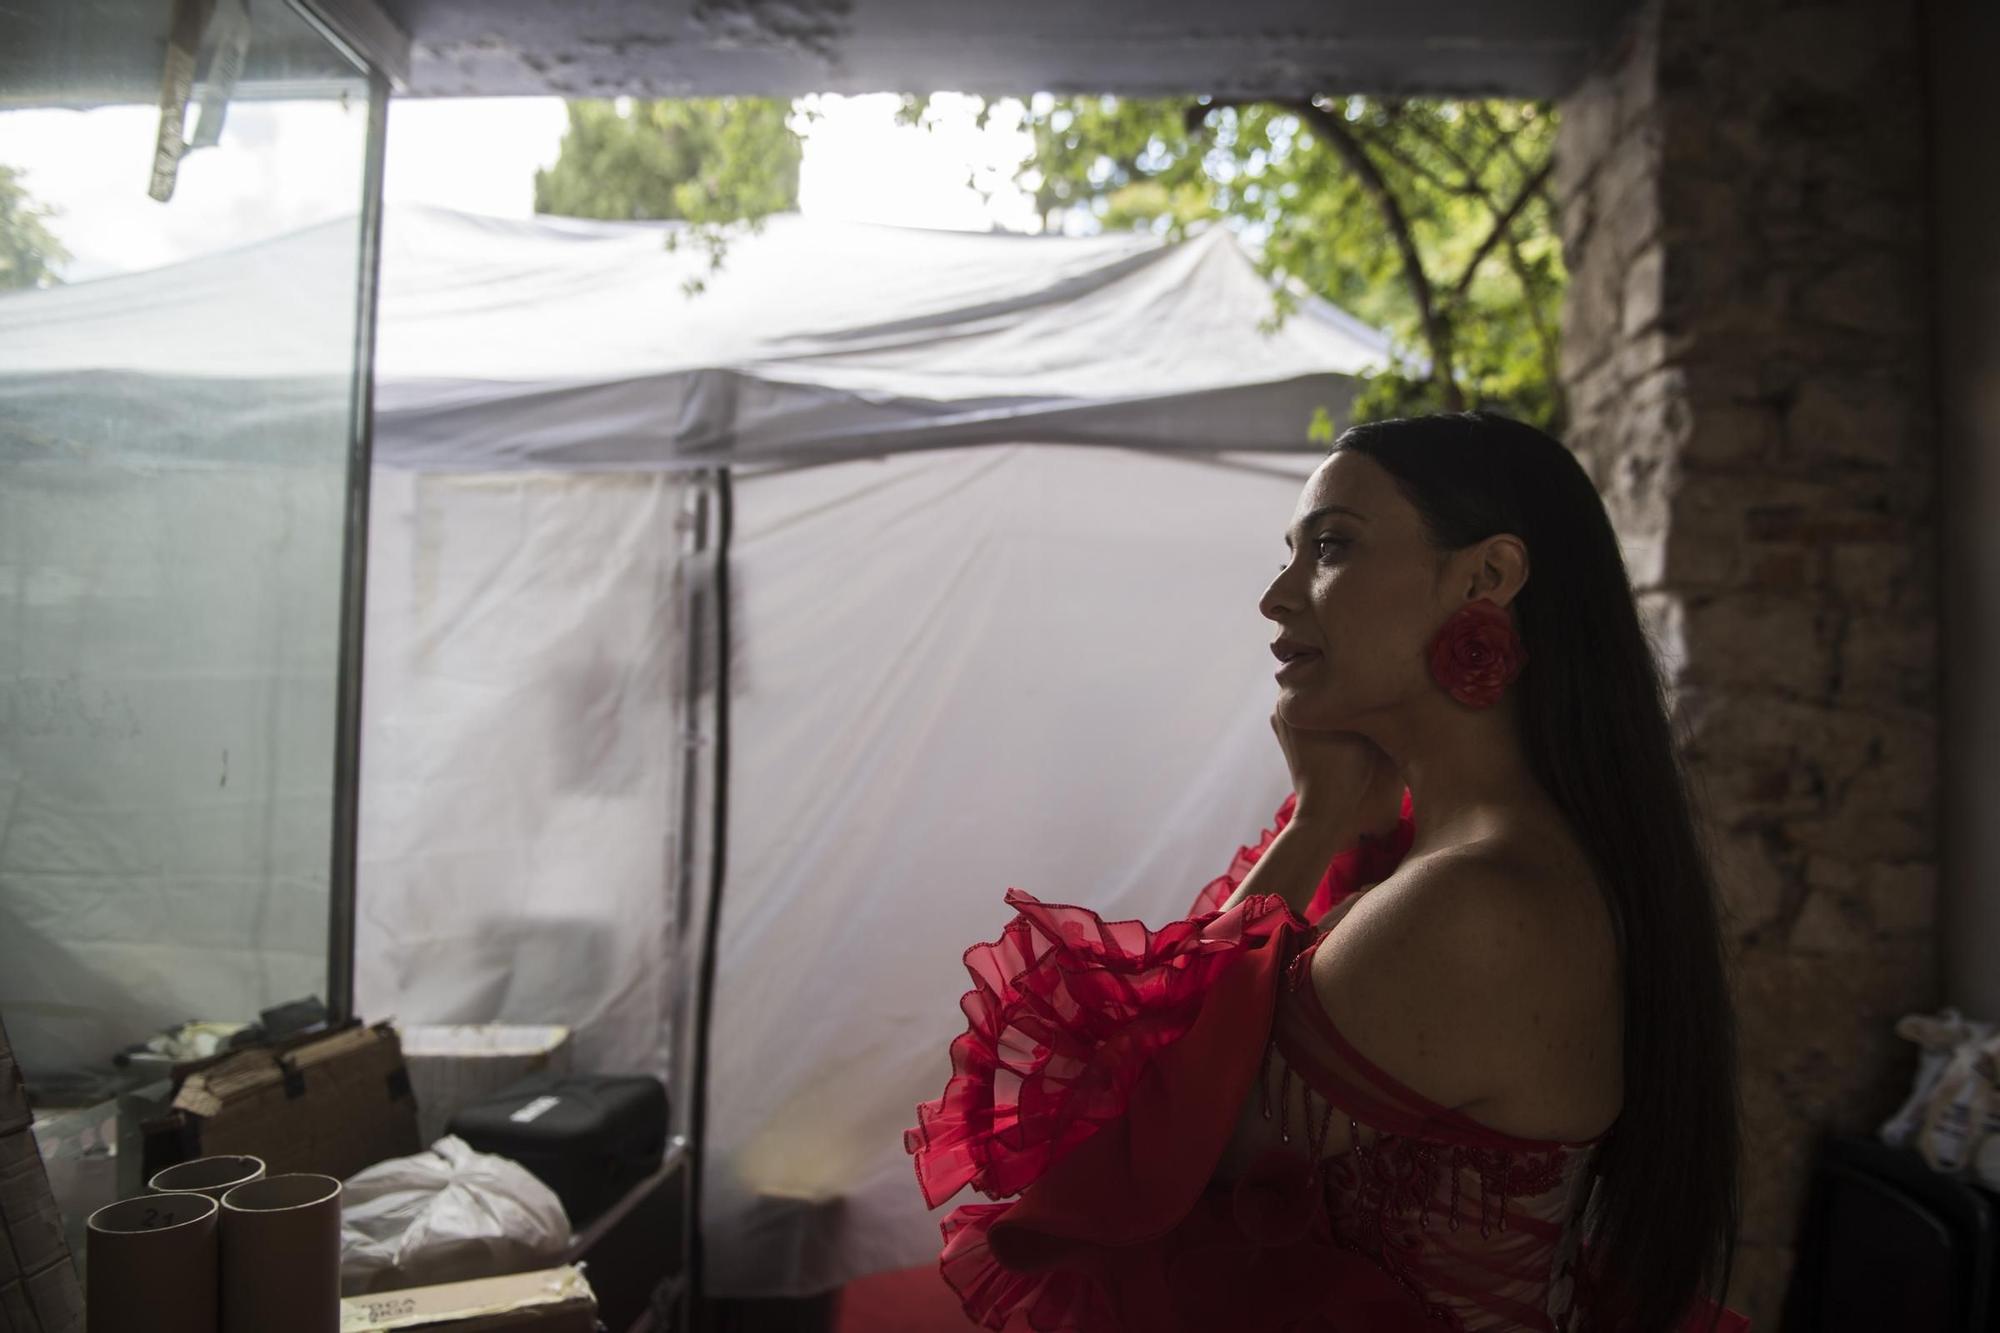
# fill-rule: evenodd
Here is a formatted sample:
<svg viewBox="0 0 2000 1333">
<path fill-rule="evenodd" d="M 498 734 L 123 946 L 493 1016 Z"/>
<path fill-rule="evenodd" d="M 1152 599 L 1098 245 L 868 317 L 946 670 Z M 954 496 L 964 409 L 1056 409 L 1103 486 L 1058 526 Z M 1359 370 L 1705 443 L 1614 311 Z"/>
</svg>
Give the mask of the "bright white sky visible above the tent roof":
<svg viewBox="0 0 2000 1333">
<path fill-rule="evenodd" d="M 898 98 L 816 96 L 802 122 L 800 210 L 826 218 L 958 230 L 1034 230 L 1012 184 L 1028 152 L 1018 116 L 974 126 L 976 102 L 934 100 L 936 128 L 898 126 Z M 1016 108 L 1018 110 L 1018 108 Z M 358 208 L 366 108 L 358 102 L 238 102 L 222 142 L 188 154 L 174 198 L 146 196 L 158 108 L 0 114 L 0 164 L 60 210 L 50 230 L 72 252 L 64 278 L 152 268 L 308 226 Z M 524 218 L 534 170 L 556 160 L 560 98 L 396 100 L 382 182 L 390 204 L 440 204 Z M 982 198 L 976 178 L 992 190 Z"/>
</svg>

